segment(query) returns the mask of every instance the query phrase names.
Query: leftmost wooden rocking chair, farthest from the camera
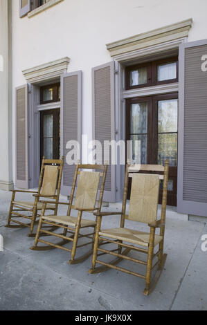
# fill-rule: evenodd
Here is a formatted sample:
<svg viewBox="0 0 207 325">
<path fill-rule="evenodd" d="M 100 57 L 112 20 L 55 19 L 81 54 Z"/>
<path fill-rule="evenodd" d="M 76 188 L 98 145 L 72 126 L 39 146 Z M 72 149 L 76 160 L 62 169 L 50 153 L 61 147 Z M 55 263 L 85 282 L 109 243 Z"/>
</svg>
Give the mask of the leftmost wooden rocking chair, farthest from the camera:
<svg viewBox="0 0 207 325">
<path fill-rule="evenodd" d="M 34 225 L 37 223 L 36 219 L 40 216 L 38 210 L 42 210 L 43 203 L 39 202 L 39 198 L 52 198 L 46 205 L 45 210 L 52 210 L 54 214 L 57 214 L 57 202 L 60 196 L 60 186 L 62 180 L 62 169 L 63 169 L 64 157 L 61 160 L 51 160 L 42 159 L 42 167 L 39 176 L 39 186 L 37 191 L 25 191 L 14 189 L 12 191 L 12 200 L 10 203 L 10 212 L 8 214 L 8 223 L 6 227 L 8 228 L 30 228 L 30 233 L 28 236 L 35 236 L 33 234 Z M 15 200 L 16 193 L 31 193 L 35 197 L 33 201 L 17 201 Z M 22 214 L 22 212 L 27 212 L 27 214 Z M 30 214 L 30 215 L 29 215 Z M 26 218 L 29 223 L 23 223 L 17 221 L 14 218 Z M 17 223 L 17 225 L 10 223 Z"/>
</svg>

